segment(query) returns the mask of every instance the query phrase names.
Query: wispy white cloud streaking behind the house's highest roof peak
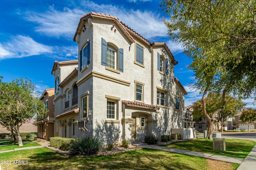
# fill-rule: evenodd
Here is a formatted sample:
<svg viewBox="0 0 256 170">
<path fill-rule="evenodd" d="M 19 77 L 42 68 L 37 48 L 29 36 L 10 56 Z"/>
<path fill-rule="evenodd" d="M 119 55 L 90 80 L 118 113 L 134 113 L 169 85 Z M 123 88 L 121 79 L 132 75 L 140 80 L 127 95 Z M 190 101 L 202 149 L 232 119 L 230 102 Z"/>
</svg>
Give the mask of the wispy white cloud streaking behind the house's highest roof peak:
<svg viewBox="0 0 256 170">
<path fill-rule="evenodd" d="M 93 1 L 83 1 L 80 6 L 81 8 L 74 9 L 65 7 L 62 11 L 51 6 L 45 13 L 28 11 L 24 14 L 24 19 L 37 23 L 35 31 L 44 35 L 72 38 L 80 17 L 94 11 L 118 17 L 146 39 L 168 36 L 168 29 L 162 22 L 159 12 L 132 10 L 111 4 L 96 4 Z"/>
</svg>

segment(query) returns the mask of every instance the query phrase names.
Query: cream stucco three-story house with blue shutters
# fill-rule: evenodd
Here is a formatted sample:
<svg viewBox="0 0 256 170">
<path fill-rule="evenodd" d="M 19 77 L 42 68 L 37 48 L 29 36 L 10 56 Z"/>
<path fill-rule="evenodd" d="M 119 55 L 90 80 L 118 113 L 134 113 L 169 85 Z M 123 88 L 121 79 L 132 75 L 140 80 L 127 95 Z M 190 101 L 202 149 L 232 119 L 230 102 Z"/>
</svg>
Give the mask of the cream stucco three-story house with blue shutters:
<svg viewBox="0 0 256 170">
<path fill-rule="evenodd" d="M 166 43 L 150 43 L 118 18 L 90 12 L 74 41 L 78 61 L 55 61 L 54 135 L 143 141 L 183 128 L 186 90 Z"/>
</svg>

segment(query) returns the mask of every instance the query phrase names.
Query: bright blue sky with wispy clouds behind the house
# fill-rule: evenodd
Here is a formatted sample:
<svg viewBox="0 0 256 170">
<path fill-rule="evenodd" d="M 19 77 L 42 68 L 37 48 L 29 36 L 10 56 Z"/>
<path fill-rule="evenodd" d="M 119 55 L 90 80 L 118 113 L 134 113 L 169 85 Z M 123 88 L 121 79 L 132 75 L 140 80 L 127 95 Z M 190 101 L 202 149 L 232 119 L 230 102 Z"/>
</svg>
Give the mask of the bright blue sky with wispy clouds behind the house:
<svg viewBox="0 0 256 170">
<path fill-rule="evenodd" d="M 170 41 L 159 0 L 1 0 L 0 76 L 4 82 L 28 77 L 42 93 L 54 87 L 54 61 L 78 57 L 72 40 L 80 17 L 90 11 L 116 16 L 150 42 L 165 42 L 176 61 L 174 76 L 188 92 L 185 106 L 201 98 L 188 88 L 194 73 L 182 46 Z M 246 100 L 252 106 L 253 99 Z"/>
</svg>

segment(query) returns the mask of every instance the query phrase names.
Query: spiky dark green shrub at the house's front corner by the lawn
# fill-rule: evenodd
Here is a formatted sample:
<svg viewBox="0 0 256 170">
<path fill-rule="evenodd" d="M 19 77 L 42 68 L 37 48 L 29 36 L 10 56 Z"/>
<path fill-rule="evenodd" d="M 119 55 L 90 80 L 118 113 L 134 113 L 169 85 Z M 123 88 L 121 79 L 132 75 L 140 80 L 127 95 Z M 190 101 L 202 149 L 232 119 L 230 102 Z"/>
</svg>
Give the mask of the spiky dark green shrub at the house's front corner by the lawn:
<svg viewBox="0 0 256 170">
<path fill-rule="evenodd" d="M 93 137 L 82 137 L 72 141 L 68 147 L 70 155 L 92 155 L 98 153 L 102 149 L 102 143 L 99 139 Z"/>
</svg>

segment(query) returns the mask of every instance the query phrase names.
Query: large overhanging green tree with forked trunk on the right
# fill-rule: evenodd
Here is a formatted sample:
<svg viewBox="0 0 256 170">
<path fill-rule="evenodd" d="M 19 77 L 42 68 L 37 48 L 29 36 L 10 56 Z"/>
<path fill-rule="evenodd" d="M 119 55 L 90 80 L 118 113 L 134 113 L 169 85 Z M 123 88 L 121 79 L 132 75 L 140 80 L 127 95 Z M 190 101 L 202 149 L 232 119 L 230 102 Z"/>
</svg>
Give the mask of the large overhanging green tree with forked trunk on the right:
<svg viewBox="0 0 256 170">
<path fill-rule="evenodd" d="M 214 119 L 226 106 L 226 94 L 248 98 L 256 92 L 255 0 L 161 0 L 164 23 L 173 41 L 184 46 L 195 72 L 193 88 L 202 93 L 202 113 L 212 138 Z M 222 105 L 207 112 L 208 93 L 222 94 Z M 256 95 L 255 95 L 256 96 Z"/>
</svg>

